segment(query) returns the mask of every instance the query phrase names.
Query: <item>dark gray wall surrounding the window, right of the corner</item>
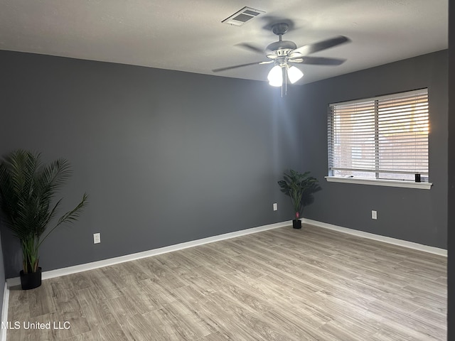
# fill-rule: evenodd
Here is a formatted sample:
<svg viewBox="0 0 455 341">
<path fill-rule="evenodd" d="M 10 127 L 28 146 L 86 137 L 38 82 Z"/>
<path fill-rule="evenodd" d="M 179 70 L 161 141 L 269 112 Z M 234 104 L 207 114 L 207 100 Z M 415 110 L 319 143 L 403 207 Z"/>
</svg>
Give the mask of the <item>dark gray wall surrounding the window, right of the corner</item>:
<svg viewBox="0 0 455 341">
<path fill-rule="evenodd" d="M 373 67 L 302 87 L 301 168 L 317 178 L 328 173 L 327 109 L 333 102 L 428 87 L 431 190 L 348 183 L 321 183 L 304 212 L 309 219 L 387 237 L 446 248 L 447 240 L 447 51 Z M 378 220 L 371 220 L 371 210 Z"/>
</svg>

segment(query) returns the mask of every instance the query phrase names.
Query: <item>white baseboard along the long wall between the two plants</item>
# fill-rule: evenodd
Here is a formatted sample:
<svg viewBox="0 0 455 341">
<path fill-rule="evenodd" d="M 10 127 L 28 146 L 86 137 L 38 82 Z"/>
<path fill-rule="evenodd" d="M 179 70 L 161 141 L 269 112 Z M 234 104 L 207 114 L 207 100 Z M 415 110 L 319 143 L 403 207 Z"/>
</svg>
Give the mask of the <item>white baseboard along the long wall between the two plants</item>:
<svg viewBox="0 0 455 341">
<path fill-rule="evenodd" d="M 150 257 L 150 256 L 156 256 L 158 254 L 166 254 L 167 252 L 171 252 L 171 251 L 187 249 L 188 247 L 197 247 L 198 245 L 219 242 L 224 239 L 230 239 L 230 238 L 245 236 L 247 234 L 267 231 L 267 229 L 277 229 L 279 227 L 289 226 L 289 224 L 291 224 L 291 221 L 277 222 L 275 224 L 268 224 L 268 225 L 259 226 L 259 227 L 252 227 L 250 229 L 242 229 L 240 231 L 219 234 L 218 236 L 192 240 L 191 242 L 170 245 L 168 247 L 160 247 L 159 249 L 142 251 L 142 252 L 138 252 L 136 254 L 127 254 L 125 256 L 104 259 L 102 261 L 93 261 L 91 263 L 80 264 L 80 265 L 75 265 L 75 266 L 68 266 L 67 268 L 62 268 L 62 269 L 43 271 L 42 278 L 48 279 L 48 278 L 55 278 L 55 277 L 60 277 L 60 276 L 65 276 L 65 275 L 70 275 L 70 274 L 76 274 L 76 273 L 82 272 L 82 271 L 98 269 L 98 268 L 102 268 L 104 266 L 124 263 L 125 261 L 134 261 L 136 259 L 146 258 L 146 257 Z M 21 278 L 20 277 L 7 278 L 6 283 L 8 285 L 8 288 L 11 288 L 12 286 L 20 286 Z"/>
</svg>

